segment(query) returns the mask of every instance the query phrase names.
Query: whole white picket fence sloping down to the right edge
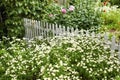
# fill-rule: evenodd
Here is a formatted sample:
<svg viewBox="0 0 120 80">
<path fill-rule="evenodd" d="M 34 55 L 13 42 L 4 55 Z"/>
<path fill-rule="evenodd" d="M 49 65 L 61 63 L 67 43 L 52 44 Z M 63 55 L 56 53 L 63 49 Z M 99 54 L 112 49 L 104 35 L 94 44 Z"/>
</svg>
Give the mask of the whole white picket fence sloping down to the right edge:
<svg viewBox="0 0 120 80">
<path fill-rule="evenodd" d="M 28 40 L 32 38 L 50 38 L 53 36 L 76 36 L 76 35 L 83 35 L 90 37 L 98 37 L 101 38 L 101 34 L 95 34 L 94 31 L 89 30 L 78 30 L 78 28 L 73 27 L 65 27 L 58 24 L 49 24 L 47 22 L 37 21 L 37 20 L 31 20 L 24 18 L 24 27 L 25 27 L 25 38 Z M 111 55 L 114 56 L 114 51 L 118 51 L 118 57 L 120 59 L 120 43 L 116 42 L 115 37 L 113 36 L 111 40 L 108 38 L 108 34 L 105 33 L 103 35 L 104 42 L 107 45 L 111 46 Z"/>
</svg>

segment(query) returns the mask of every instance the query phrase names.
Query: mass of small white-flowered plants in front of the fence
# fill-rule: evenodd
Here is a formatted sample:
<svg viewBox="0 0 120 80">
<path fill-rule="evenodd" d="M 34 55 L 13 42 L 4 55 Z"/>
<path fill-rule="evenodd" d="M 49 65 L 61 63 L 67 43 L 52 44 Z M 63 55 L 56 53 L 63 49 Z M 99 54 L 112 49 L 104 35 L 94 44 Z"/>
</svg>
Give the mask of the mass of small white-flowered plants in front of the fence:
<svg viewBox="0 0 120 80">
<path fill-rule="evenodd" d="M 0 50 L 1 80 L 115 80 L 120 74 L 117 52 L 111 57 L 110 47 L 98 38 L 13 38 L 8 44 Z"/>
</svg>

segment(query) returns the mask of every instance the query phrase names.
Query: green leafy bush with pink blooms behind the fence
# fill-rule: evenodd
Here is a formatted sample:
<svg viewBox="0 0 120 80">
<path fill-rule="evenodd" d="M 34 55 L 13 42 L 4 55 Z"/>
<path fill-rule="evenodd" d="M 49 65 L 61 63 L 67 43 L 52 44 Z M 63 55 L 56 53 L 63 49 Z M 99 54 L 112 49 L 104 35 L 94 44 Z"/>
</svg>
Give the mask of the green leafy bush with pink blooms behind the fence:
<svg viewBox="0 0 120 80">
<path fill-rule="evenodd" d="M 72 5 L 75 7 L 70 11 L 68 7 L 49 5 L 46 10 L 46 20 L 49 22 L 61 24 L 64 26 L 78 27 L 79 29 L 89 29 L 101 24 L 100 12 L 95 11 L 95 2 L 93 0 L 75 0 Z M 66 13 L 61 12 L 66 9 Z M 53 15 L 50 17 L 49 15 Z"/>
</svg>

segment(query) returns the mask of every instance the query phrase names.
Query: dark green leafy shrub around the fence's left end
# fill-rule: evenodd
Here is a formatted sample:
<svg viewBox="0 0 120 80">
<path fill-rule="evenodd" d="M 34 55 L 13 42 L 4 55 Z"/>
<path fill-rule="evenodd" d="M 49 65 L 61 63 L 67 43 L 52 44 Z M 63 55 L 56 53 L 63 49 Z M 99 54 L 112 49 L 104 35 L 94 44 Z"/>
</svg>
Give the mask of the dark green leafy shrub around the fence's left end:
<svg viewBox="0 0 120 80">
<path fill-rule="evenodd" d="M 23 37 L 23 18 L 42 19 L 45 12 L 44 7 L 48 4 L 48 0 L 1 0 L 0 3 L 2 17 L 6 16 L 2 22 L 4 24 L 2 27 L 6 29 L 7 36 Z"/>
</svg>

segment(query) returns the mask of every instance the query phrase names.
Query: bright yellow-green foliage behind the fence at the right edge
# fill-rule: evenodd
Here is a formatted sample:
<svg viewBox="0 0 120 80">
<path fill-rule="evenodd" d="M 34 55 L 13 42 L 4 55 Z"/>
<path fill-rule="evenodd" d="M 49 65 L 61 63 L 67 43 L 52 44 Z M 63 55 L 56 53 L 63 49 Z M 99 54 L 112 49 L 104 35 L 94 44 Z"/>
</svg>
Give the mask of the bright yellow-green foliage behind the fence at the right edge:
<svg viewBox="0 0 120 80">
<path fill-rule="evenodd" d="M 100 32 L 110 32 L 110 35 L 115 35 L 120 40 L 120 10 L 119 8 L 113 8 L 108 12 L 102 13 L 103 24 L 100 28 Z"/>
</svg>

